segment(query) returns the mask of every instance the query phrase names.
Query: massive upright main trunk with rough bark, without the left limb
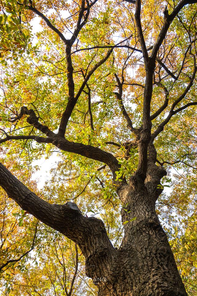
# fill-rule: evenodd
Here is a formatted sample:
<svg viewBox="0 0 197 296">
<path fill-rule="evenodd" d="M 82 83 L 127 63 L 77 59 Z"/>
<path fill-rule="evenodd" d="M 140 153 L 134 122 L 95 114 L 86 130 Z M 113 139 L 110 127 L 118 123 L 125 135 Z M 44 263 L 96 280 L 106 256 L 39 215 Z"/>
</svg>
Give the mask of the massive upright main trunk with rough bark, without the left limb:
<svg viewBox="0 0 197 296">
<path fill-rule="evenodd" d="M 133 187 L 132 182 L 123 189 L 122 199 L 123 195 L 123 221 L 136 219 L 125 224 L 122 246 L 93 256 L 90 267 L 86 264 L 98 296 L 187 295 L 153 197 L 146 187 Z"/>
</svg>

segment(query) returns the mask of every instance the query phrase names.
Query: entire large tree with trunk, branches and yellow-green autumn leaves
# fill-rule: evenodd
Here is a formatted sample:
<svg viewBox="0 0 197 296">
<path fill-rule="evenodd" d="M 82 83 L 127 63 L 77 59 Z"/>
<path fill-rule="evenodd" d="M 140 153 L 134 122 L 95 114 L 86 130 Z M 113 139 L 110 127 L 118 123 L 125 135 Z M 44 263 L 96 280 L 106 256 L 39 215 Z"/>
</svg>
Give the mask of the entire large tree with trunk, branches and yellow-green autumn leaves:
<svg viewBox="0 0 197 296">
<path fill-rule="evenodd" d="M 170 181 L 167 168 L 174 165 L 195 176 L 195 3 L 1 1 L 0 185 L 16 202 L 9 206 L 2 192 L 3 217 L 6 206 L 18 204 L 22 210 L 14 217 L 19 227 L 31 214 L 56 231 L 55 245 L 58 233 L 75 243 L 70 290 L 65 264 L 61 265 L 66 295 L 71 295 L 76 278 L 77 246 L 99 296 L 187 295 L 156 203 L 166 199 L 161 180 Z M 31 24 L 38 16 L 43 30 L 36 42 Z M 49 158 L 54 149 L 61 161 L 48 186 L 39 191 L 31 180 L 38 169 L 33 161 L 43 154 Z M 194 200 L 191 195 L 188 198 Z M 105 227 L 108 220 L 103 218 L 104 224 L 95 215 L 85 215 L 94 213 L 95 204 L 103 206 L 100 218 L 105 211 L 106 217 L 116 217 L 110 226 L 112 237 Z M 180 201 L 176 206 L 184 210 Z M 116 231 L 119 211 L 123 237 Z M 192 211 L 191 205 L 185 235 L 187 239 L 193 233 L 196 240 Z M 32 223 L 29 251 L 38 222 Z M 13 260 L 4 259 L 1 269 Z M 188 260 L 195 263 L 195 255 Z M 184 266 L 180 269 L 187 273 Z M 56 286 L 54 291 L 58 293 Z"/>
</svg>

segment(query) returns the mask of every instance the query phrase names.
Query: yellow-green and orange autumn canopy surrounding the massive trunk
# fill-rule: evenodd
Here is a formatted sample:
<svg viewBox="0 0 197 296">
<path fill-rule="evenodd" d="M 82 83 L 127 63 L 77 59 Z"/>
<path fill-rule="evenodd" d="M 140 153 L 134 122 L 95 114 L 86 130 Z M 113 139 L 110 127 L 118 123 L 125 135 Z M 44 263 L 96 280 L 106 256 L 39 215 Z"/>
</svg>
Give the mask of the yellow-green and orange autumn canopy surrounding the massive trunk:
<svg viewBox="0 0 197 296">
<path fill-rule="evenodd" d="M 42 200 L 103 220 L 119 248 L 137 217 L 121 221 L 117 188 L 143 178 L 138 133 L 151 124 L 167 171 L 156 212 L 196 295 L 195 1 L 2 0 L 0 10 L 0 162 Z M 77 244 L 0 197 L 0 294 L 96 295 Z"/>
</svg>

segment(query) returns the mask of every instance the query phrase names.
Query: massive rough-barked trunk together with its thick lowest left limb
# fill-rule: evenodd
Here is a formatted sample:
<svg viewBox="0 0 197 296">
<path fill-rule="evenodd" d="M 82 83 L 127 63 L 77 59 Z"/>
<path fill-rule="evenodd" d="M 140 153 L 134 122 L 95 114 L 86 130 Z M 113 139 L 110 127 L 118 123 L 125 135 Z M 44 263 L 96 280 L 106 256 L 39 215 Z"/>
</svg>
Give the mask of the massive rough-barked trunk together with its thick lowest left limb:
<svg viewBox="0 0 197 296">
<path fill-rule="evenodd" d="M 167 236 L 155 212 L 159 189 L 153 186 L 158 183 L 154 172 L 158 178 L 159 172 L 164 174 L 149 163 L 145 183 L 133 176 L 119 188 L 125 205 L 122 220 L 136 219 L 125 224 L 118 250 L 111 244 L 101 220 L 84 217 L 74 203 L 47 203 L 2 164 L 0 185 L 24 210 L 78 244 L 86 258 L 86 274 L 98 286 L 99 296 L 185 296 Z"/>
</svg>

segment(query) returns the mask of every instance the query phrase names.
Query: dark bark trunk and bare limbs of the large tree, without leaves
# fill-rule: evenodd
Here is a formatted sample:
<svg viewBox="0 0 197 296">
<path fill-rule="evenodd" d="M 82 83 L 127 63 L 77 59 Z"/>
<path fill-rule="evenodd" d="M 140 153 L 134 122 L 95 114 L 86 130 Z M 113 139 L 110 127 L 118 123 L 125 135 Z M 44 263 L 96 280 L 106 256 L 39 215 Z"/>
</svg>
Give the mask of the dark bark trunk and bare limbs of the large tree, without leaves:
<svg viewBox="0 0 197 296">
<path fill-rule="evenodd" d="M 146 40 L 144 39 L 143 28 L 141 25 L 141 1 L 126 1 L 135 4 L 136 30 L 138 32 L 141 49 L 132 48 L 128 45 L 123 45 L 123 47 L 143 53 L 146 82 L 143 87 L 144 101 L 142 126 L 137 129 L 133 127 L 131 118 L 123 105 L 124 69 L 122 71 L 122 82 L 118 75 L 115 75 L 119 92 L 114 93 L 118 98 L 120 109 L 127 121 L 128 128 L 135 134 L 135 146 L 138 146 L 139 151 L 139 163 L 135 174 L 131 176 L 128 182 L 123 178 L 123 182 L 119 184 L 117 189 L 119 198 L 123 203 L 123 209 L 121 211 L 122 220 L 123 222 L 128 221 L 128 223 L 124 224 L 124 238 L 121 247 L 118 250 L 113 247 L 101 220 L 94 217 L 88 218 L 83 216 L 77 205 L 71 202 L 63 205 L 47 203 L 34 192 L 31 192 L 2 164 L 0 164 L 0 186 L 2 186 L 8 196 L 14 199 L 22 209 L 28 211 L 43 223 L 63 233 L 78 244 L 86 259 L 86 274 L 92 278 L 94 284 L 98 286 L 98 296 L 185 296 L 187 294 L 176 267 L 167 236 L 163 231 L 155 212 L 155 202 L 161 193 L 161 189 L 158 189 L 158 185 L 160 184 L 161 178 L 166 175 L 166 171 L 162 166 L 157 166 L 155 164 L 156 151 L 153 146 L 153 141 L 164 129 L 165 125 L 174 114 L 186 109 L 188 106 L 197 104 L 197 102 L 190 102 L 177 108 L 177 105 L 189 92 L 195 79 L 197 72 L 195 56 L 193 56 L 194 69 L 189 84 L 172 104 L 167 118 L 160 123 L 152 135 L 151 120 L 155 119 L 167 107 L 169 93 L 167 89 L 164 89 L 166 93 L 165 101 L 152 116 L 151 99 L 156 60 L 175 80 L 178 79 L 178 76 L 183 69 L 181 68 L 178 76 L 174 76 L 167 69 L 165 64 L 163 64 L 162 60 L 158 60 L 157 55 L 173 19 L 185 5 L 196 3 L 196 0 L 180 1 L 174 10 L 172 10 L 171 14 L 168 14 L 166 7 L 161 31 L 155 44 L 149 48 L 146 47 Z M 58 134 L 52 132 L 47 126 L 42 125 L 32 109 L 29 110 L 27 107 L 23 106 L 20 114 L 10 121 L 14 123 L 15 121 L 20 120 L 24 115 L 27 115 L 27 122 L 35 129 L 45 134 L 46 138 L 30 135 L 10 136 L 5 132 L 6 138 L 1 139 L 0 143 L 8 140 L 20 139 L 34 139 L 38 143 L 51 143 L 63 151 L 77 153 L 86 158 L 105 163 L 111 169 L 115 179 L 115 171 L 119 170 L 120 165 L 113 154 L 91 145 L 70 142 L 65 138 L 66 126 L 78 98 L 82 91 L 84 91 L 91 75 L 98 69 L 98 67 L 107 61 L 115 47 L 113 45 L 107 45 L 107 47 L 100 46 L 100 48 L 109 48 L 109 51 L 103 59 L 97 62 L 87 75 L 84 76 L 84 81 L 78 92 L 75 93 L 71 49 L 81 28 L 87 22 L 90 8 L 96 2 L 97 0 L 94 0 L 89 4 L 88 1 L 85 2 L 82 0 L 74 33 L 71 39 L 66 39 L 44 14 L 32 6 L 32 1 L 30 1 L 30 5 L 28 6 L 29 10 L 40 16 L 47 26 L 60 37 L 63 44 L 66 46 L 67 86 L 69 90 L 68 103 L 62 114 Z M 123 41 L 121 41 L 121 43 L 122 42 Z M 117 47 L 119 46 L 117 45 Z M 190 47 L 191 45 L 189 45 L 187 51 Z M 151 49 L 152 51 L 149 56 L 148 51 Z M 175 107 L 177 109 L 175 109 Z M 136 219 L 134 220 L 133 218 Z"/>
</svg>

